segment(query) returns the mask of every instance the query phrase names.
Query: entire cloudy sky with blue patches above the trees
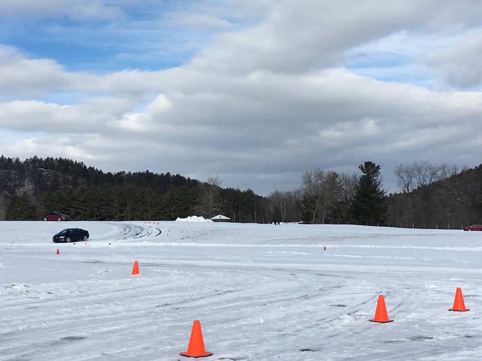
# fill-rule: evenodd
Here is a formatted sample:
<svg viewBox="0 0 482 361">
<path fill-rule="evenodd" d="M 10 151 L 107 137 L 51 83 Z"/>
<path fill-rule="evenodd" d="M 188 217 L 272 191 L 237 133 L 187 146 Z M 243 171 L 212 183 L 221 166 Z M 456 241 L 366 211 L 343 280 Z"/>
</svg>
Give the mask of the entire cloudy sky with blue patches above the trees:
<svg viewBox="0 0 482 361">
<path fill-rule="evenodd" d="M 0 153 L 264 195 L 482 162 L 482 2 L 1 0 Z"/>
</svg>

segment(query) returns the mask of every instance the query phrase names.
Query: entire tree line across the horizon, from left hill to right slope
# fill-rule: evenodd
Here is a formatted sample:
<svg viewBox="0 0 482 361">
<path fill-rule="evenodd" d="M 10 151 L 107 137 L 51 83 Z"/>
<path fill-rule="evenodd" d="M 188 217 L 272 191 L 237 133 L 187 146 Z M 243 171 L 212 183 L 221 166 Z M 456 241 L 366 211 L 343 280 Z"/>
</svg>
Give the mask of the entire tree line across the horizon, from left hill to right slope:
<svg viewBox="0 0 482 361">
<path fill-rule="evenodd" d="M 359 173 L 305 171 L 299 188 L 268 197 L 170 173 L 104 173 L 82 162 L 0 157 L 0 219 L 41 219 L 59 210 L 72 219 L 173 220 L 222 214 L 235 222 L 350 223 L 461 228 L 482 217 L 482 166 L 458 170 L 428 162 L 394 170 L 401 191 L 386 195 L 380 166 Z"/>
</svg>

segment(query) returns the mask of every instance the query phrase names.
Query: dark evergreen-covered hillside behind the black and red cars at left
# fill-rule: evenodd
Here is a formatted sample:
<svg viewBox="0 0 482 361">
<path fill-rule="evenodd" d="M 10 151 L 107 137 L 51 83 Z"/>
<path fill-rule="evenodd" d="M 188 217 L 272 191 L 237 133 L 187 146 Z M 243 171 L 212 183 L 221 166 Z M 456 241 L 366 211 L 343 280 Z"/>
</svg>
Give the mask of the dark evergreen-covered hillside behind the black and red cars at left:
<svg viewBox="0 0 482 361">
<path fill-rule="evenodd" d="M 0 219 L 42 219 L 61 211 L 71 219 L 174 220 L 219 213 L 237 222 L 272 221 L 267 200 L 253 190 L 221 188 L 170 173 L 104 173 L 65 158 L 0 156 Z"/>
</svg>

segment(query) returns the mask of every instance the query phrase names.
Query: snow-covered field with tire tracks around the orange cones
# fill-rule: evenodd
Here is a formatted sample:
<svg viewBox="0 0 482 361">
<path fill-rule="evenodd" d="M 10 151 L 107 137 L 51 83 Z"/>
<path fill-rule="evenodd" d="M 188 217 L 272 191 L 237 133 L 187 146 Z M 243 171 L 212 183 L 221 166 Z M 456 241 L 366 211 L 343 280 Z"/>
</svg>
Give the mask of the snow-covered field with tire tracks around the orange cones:
<svg viewBox="0 0 482 361">
<path fill-rule="evenodd" d="M 482 232 L 3 221 L 0 250 L 0 360 L 189 360 L 195 319 L 207 360 L 482 360 Z"/>
</svg>

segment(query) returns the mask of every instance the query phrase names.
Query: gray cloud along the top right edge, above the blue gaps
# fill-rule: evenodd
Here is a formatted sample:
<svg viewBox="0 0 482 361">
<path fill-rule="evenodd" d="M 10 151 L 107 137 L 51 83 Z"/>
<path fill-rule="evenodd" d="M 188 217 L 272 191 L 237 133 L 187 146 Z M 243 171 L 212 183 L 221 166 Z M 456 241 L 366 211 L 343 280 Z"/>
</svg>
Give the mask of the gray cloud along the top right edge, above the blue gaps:
<svg viewBox="0 0 482 361">
<path fill-rule="evenodd" d="M 470 0 L 282 1 L 262 23 L 220 34 L 193 63 L 230 73 L 302 73 L 342 64 L 350 48 L 393 32 L 443 32 L 478 25 L 481 16 L 482 4 Z"/>
</svg>

